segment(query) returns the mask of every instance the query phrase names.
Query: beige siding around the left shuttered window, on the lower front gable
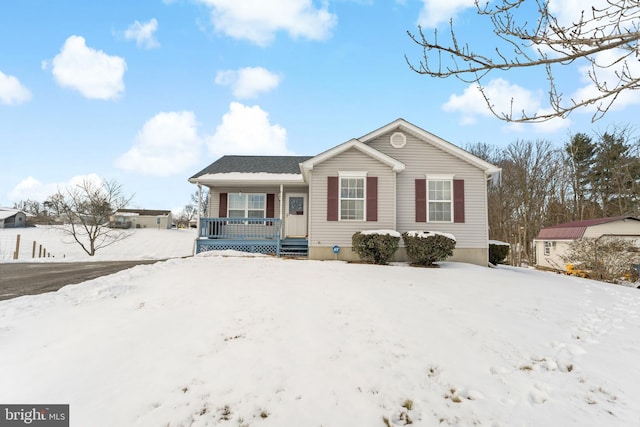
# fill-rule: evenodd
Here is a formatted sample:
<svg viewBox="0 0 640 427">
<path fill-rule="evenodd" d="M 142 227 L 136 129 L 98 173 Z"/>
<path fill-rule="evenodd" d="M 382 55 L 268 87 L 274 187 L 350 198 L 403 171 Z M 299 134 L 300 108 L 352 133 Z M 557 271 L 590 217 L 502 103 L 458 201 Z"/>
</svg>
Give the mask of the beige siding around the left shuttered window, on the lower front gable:
<svg viewBox="0 0 640 427">
<path fill-rule="evenodd" d="M 378 177 L 378 221 L 327 221 L 327 177 L 366 171 Z M 316 165 L 311 174 L 309 246 L 351 246 L 357 231 L 395 229 L 395 173 L 380 161 L 350 149 Z"/>
</svg>

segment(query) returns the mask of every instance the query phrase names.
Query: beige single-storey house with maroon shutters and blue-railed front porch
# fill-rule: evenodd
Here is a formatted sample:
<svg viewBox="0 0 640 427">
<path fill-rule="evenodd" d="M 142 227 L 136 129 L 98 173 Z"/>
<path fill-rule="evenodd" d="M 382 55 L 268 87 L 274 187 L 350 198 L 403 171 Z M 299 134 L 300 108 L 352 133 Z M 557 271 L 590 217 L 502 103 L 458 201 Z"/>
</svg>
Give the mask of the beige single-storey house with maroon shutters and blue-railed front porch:
<svg viewBox="0 0 640 427">
<path fill-rule="evenodd" d="M 357 260 L 357 231 L 430 230 L 456 237 L 452 260 L 486 266 L 487 185 L 499 175 L 403 119 L 316 156 L 224 156 L 189 179 L 217 214 L 200 218 L 196 252 Z"/>
</svg>

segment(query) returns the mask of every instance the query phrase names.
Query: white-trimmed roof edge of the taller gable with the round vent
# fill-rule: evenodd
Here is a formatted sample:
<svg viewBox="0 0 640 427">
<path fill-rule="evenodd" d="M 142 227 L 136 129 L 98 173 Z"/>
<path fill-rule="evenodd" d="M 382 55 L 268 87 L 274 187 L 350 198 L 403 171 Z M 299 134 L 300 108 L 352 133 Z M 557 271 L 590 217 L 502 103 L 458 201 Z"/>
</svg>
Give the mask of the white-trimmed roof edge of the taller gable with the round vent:
<svg viewBox="0 0 640 427">
<path fill-rule="evenodd" d="M 380 135 L 384 135 L 398 128 L 406 132 L 409 132 L 422 140 L 426 140 L 427 142 L 441 149 L 442 151 L 445 151 L 467 163 L 470 163 L 480 168 L 488 176 L 495 175 L 497 177 L 500 175 L 500 172 L 502 171 L 502 169 L 500 169 L 499 167 L 494 166 L 491 163 L 486 162 L 477 156 L 474 156 L 468 151 L 463 150 L 462 148 L 448 141 L 445 141 L 444 139 L 430 132 L 427 132 L 426 130 L 414 125 L 413 123 L 409 123 L 408 121 L 402 118 L 396 119 L 393 122 L 387 125 L 384 125 L 379 129 L 374 130 L 373 132 L 369 132 L 368 134 L 358 138 L 358 140 L 366 144 L 367 142 L 379 137 Z"/>
</svg>

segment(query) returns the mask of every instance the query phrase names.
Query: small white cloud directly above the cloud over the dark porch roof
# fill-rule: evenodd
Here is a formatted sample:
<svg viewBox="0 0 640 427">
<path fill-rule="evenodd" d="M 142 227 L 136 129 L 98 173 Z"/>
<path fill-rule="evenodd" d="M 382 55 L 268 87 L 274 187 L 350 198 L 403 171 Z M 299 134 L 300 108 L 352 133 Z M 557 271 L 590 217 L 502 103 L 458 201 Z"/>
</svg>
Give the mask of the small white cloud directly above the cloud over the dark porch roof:
<svg viewBox="0 0 640 427">
<path fill-rule="evenodd" d="M 216 83 L 231 86 L 238 99 L 256 98 L 260 93 L 275 89 L 282 77 L 262 67 L 246 67 L 239 70 L 223 70 L 216 74 Z"/>
</svg>

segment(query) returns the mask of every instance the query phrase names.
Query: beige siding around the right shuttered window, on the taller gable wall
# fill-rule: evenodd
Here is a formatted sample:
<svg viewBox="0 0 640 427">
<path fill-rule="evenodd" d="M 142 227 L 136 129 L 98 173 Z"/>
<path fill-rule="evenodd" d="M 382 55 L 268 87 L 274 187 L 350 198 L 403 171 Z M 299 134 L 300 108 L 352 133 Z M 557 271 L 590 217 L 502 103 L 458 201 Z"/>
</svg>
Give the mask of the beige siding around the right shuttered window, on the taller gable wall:
<svg viewBox="0 0 640 427">
<path fill-rule="evenodd" d="M 476 166 L 455 157 L 430 143 L 404 132 L 407 143 L 394 148 L 389 137 L 395 131 L 382 135 L 369 145 L 402 163 L 406 168 L 398 174 L 397 231 L 429 230 L 451 233 L 456 237 L 457 248 L 487 248 L 488 220 L 484 172 Z M 464 180 L 465 222 L 430 223 L 415 221 L 415 180 L 428 174 L 454 174 L 454 179 Z"/>
</svg>

